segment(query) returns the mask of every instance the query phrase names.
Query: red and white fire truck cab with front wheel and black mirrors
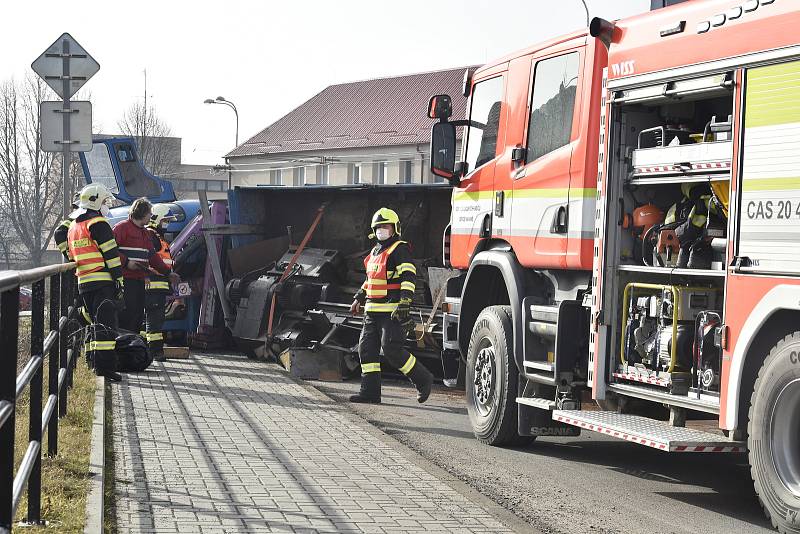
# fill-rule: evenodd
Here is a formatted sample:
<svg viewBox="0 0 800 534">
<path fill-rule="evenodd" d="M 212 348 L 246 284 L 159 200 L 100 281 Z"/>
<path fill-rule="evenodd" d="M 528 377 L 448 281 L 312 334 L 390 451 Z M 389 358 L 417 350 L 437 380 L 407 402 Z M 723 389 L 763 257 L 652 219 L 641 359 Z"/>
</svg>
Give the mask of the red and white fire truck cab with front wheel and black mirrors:
<svg viewBox="0 0 800 534">
<path fill-rule="evenodd" d="M 547 405 L 559 376 L 587 379 L 600 132 L 592 110 L 605 64 L 603 44 L 576 32 L 468 72 L 465 121 L 448 121 L 447 95 L 431 99 L 429 116 L 440 119 L 432 171 L 454 185 L 445 261 L 460 273 L 447 285 L 443 363 L 464 359 L 473 427 L 489 444 L 575 433 L 522 403 Z M 570 358 L 555 357 L 557 343 Z M 561 405 L 575 405 L 574 391 L 561 388 Z"/>
</svg>

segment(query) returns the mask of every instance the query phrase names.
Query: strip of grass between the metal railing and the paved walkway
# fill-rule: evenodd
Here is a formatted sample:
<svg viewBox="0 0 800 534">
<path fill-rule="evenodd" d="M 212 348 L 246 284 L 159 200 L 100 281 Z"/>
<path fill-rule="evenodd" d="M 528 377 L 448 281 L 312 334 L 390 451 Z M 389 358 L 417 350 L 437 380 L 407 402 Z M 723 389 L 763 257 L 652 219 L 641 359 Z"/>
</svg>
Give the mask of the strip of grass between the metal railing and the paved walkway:
<svg viewBox="0 0 800 534">
<path fill-rule="evenodd" d="M 28 359 L 25 345 L 29 334 L 23 333 L 20 324 L 19 367 Z M 42 407 L 47 399 L 47 362 L 44 367 Z M 58 455 L 47 456 L 47 436 L 42 444 L 42 501 L 41 518 L 47 521 L 49 531 L 83 532 L 86 496 L 89 489 L 89 451 L 91 447 L 92 416 L 94 407 L 95 377 L 83 361 L 78 361 L 69 390 L 67 415 L 59 420 Z M 28 415 L 30 388 L 26 388 L 16 407 L 15 466 L 28 447 Z M 57 416 L 57 414 L 55 414 Z M 17 508 L 16 521 L 27 516 L 27 489 Z M 39 530 L 39 528 L 36 528 Z"/>
</svg>

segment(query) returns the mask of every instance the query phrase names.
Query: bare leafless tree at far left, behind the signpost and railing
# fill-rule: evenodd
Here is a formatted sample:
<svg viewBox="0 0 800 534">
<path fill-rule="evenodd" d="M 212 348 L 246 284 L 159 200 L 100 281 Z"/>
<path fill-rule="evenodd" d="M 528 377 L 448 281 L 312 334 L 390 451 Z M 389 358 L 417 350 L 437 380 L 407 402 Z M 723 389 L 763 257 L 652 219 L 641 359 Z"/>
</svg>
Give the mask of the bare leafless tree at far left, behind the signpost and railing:
<svg viewBox="0 0 800 534">
<path fill-rule="evenodd" d="M 39 104 L 54 96 L 32 76 L 0 85 L 0 238 L 6 261 L 21 253 L 32 266 L 41 265 L 61 216 L 61 158 L 40 148 Z"/>
</svg>

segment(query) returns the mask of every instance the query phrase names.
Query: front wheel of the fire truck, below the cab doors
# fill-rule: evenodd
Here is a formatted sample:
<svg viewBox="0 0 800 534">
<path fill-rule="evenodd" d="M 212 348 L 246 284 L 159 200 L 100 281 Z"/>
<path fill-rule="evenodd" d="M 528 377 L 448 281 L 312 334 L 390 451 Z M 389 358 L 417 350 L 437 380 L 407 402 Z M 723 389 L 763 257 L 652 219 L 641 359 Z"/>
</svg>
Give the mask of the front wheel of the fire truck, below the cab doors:
<svg viewBox="0 0 800 534">
<path fill-rule="evenodd" d="M 512 355 L 510 306 L 489 306 L 475 326 L 467 350 L 467 413 L 478 441 L 512 445 L 530 441 L 517 434 L 517 372 Z"/>
</svg>

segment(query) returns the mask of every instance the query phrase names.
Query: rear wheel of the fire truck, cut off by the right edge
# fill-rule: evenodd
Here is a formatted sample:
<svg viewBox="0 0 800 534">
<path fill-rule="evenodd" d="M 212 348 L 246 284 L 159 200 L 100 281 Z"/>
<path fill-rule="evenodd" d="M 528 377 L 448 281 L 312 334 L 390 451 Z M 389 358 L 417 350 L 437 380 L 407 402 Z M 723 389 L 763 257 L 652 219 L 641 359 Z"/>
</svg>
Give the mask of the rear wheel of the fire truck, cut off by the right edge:
<svg viewBox="0 0 800 534">
<path fill-rule="evenodd" d="M 800 332 L 779 341 L 750 399 L 748 449 L 756 493 L 772 525 L 800 533 Z"/>
</svg>

